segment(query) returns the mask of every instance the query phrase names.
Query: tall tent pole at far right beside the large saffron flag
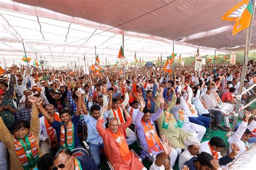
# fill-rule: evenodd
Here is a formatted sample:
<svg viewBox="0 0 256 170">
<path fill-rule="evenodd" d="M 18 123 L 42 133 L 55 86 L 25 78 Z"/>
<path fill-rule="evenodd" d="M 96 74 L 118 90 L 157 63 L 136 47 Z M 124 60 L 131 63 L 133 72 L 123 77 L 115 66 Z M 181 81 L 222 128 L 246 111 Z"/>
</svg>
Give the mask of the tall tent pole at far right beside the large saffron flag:
<svg viewBox="0 0 256 170">
<path fill-rule="evenodd" d="M 252 0 L 252 6 L 254 6 L 254 4 L 255 4 L 255 0 Z M 250 51 L 250 44 L 251 44 L 251 37 L 252 37 L 253 16 L 254 16 L 254 8 L 252 8 L 252 18 L 251 18 L 250 26 L 247 27 L 245 55 L 244 55 L 244 62 L 242 63 L 242 75 L 241 75 L 241 80 L 240 80 L 240 85 L 239 85 L 238 96 L 237 96 L 237 104 L 235 105 L 234 123 L 233 123 L 233 127 L 232 127 L 232 132 L 234 132 L 235 126 L 237 125 L 238 111 L 239 111 L 241 98 L 242 98 L 242 95 L 241 95 L 242 88 L 244 87 L 248 55 L 249 55 L 249 51 Z"/>
</svg>

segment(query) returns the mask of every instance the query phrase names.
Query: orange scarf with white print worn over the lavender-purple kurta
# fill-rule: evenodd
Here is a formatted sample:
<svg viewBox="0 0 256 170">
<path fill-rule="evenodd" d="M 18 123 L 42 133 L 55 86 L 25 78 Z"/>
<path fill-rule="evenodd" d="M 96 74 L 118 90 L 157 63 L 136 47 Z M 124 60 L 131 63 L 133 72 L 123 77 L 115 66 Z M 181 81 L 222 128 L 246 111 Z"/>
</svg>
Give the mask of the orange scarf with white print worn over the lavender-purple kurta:
<svg viewBox="0 0 256 170">
<path fill-rule="evenodd" d="M 147 147 L 149 147 L 148 151 L 150 153 L 152 153 L 153 150 L 156 152 L 159 152 L 157 145 L 160 147 L 161 151 L 163 151 L 163 146 L 161 145 L 157 132 L 156 130 L 154 130 L 151 122 L 150 121 L 148 122 L 149 126 L 147 126 L 147 124 L 144 121 L 140 121 L 140 122 L 142 122 L 142 125 L 143 125 L 145 139 L 147 141 Z M 156 141 L 157 145 L 154 144 L 154 141 Z"/>
</svg>

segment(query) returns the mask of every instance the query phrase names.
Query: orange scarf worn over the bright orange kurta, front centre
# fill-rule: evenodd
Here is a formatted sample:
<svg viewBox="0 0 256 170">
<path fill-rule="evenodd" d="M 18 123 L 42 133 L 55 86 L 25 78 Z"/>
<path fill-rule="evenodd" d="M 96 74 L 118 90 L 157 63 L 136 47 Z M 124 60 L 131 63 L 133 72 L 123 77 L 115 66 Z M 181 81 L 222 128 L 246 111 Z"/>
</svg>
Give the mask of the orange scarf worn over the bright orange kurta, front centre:
<svg viewBox="0 0 256 170">
<path fill-rule="evenodd" d="M 118 144 L 118 148 L 119 148 L 122 160 L 123 161 L 130 160 L 132 158 L 132 153 L 130 152 L 129 147 L 125 142 L 126 140 L 125 140 L 123 131 L 118 128 L 117 133 L 113 133 L 111 130 L 109 130 L 109 132 L 112 138 L 116 140 Z M 116 156 L 119 157 L 119 155 L 116 155 Z"/>
</svg>

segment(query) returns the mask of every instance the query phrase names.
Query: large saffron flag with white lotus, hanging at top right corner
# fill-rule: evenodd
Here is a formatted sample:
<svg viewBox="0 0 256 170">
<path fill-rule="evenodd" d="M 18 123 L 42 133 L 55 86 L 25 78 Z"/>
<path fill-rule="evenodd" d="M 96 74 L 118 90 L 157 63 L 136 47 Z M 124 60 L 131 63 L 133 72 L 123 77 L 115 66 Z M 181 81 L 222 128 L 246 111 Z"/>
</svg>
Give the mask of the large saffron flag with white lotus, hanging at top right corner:
<svg viewBox="0 0 256 170">
<path fill-rule="evenodd" d="M 221 17 L 223 20 L 235 20 L 232 36 L 246 29 L 250 25 L 252 19 L 252 10 L 253 7 L 251 0 L 243 0 L 235 5 L 232 9 L 228 10 L 225 15 Z"/>
</svg>

